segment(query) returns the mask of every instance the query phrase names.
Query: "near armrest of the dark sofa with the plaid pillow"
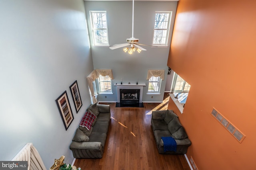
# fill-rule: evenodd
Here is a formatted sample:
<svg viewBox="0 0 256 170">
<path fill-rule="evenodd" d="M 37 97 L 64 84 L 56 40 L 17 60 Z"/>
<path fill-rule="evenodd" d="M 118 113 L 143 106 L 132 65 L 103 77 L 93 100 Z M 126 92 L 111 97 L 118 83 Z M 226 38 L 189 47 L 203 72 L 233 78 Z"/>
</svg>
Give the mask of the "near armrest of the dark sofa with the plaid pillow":
<svg viewBox="0 0 256 170">
<path fill-rule="evenodd" d="M 73 141 L 69 147 L 72 149 L 94 149 L 100 150 L 102 149 L 102 145 L 100 142 L 75 142 Z"/>
</svg>

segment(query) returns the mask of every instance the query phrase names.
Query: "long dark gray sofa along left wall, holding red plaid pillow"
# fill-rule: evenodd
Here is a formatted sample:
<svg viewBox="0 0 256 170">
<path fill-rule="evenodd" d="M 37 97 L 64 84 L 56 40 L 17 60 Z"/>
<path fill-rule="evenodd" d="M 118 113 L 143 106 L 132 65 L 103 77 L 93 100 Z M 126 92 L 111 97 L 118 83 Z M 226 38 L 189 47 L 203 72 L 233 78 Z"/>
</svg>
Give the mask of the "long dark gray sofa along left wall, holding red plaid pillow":
<svg viewBox="0 0 256 170">
<path fill-rule="evenodd" d="M 93 104 L 87 111 L 94 113 L 96 118 L 90 131 L 82 126 L 76 129 L 70 150 L 74 158 L 102 158 L 110 125 L 110 106 Z"/>
</svg>

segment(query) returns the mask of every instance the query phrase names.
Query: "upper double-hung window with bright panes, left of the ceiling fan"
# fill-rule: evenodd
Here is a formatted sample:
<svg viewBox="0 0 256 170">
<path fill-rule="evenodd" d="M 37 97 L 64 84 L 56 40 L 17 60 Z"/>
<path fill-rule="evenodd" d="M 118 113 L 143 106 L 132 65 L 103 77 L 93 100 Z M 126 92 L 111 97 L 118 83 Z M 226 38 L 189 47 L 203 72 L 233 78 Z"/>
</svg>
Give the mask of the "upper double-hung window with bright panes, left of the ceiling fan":
<svg viewBox="0 0 256 170">
<path fill-rule="evenodd" d="M 106 11 L 90 11 L 94 45 L 108 45 L 108 25 Z"/>
</svg>

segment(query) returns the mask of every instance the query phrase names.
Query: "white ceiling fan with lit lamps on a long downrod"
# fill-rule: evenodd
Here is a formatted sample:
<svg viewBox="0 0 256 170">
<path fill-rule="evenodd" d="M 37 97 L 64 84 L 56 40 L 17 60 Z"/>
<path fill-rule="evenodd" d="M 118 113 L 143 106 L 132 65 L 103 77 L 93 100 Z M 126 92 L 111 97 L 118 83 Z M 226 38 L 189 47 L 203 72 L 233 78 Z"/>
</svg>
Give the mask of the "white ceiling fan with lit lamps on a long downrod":
<svg viewBox="0 0 256 170">
<path fill-rule="evenodd" d="M 126 47 L 126 46 L 130 46 L 130 47 L 126 47 L 123 49 L 123 51 L 126 53 L 128 51 L 129 54 L 132 54 L 133 52 L 137 51 L 138 53 L 140 53 L 142 50 L 146 51 L 146 49 L 140 47 L 139 45 L 143 45 L 143 44 L 139 44 L 139 39 L 133 37 L 133 26 L 134 25 L 134 0 L 132 0 L 132 37 L 126 39 L 127 43 L 124 44 L 115 44 L 112 47 L 109 47 L 110 49 L 118 49 L 121 47 Z"/>
</svg>

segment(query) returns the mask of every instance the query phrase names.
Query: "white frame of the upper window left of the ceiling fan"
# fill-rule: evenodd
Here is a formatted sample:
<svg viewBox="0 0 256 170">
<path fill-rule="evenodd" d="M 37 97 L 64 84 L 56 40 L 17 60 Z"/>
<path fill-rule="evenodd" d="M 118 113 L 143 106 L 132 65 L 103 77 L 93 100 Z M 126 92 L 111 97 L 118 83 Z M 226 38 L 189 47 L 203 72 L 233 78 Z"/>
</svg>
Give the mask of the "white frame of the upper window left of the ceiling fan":
<svg viewBox="0 0 256 170">
<path fill-rule="evenodd" d="M 106 14 L 106 28 L 94 28 L 93 14 L 96 14 L 96 13 L 104 13 L 104 14 Z M 91 21 L 91 28 L 92 28 L 93 45 L 94 46 L 109 46 L 107 12 L 106 11 L 90 11 L 90 21 Z M 106 30 L 107 43 L 96 43 L 96 37 L 95 37 L 95 31 L 96 30 Z"/>
</svg>

